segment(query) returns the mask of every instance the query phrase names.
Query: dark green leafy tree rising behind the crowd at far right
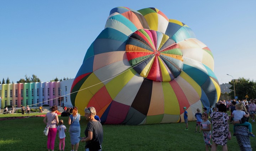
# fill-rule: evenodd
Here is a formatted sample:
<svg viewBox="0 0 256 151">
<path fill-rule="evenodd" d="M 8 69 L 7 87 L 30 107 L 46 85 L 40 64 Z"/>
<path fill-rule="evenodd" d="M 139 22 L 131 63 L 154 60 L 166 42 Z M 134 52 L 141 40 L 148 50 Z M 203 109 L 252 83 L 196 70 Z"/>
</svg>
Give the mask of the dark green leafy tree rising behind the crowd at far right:
<svg viewBox="0 0 256 151">
<path fill-rule="evenodd" d="M 256 82 L 250 81 L 250 79 L 244 79 L 243 77 L 239 77 L 238 80 L 235 81 L 235 92 L 238 99 L 245 99 L 245 96 L 248 95 L 248 99 L 256 98 Z M 232 90 L 229 95 L 231 98 L 234 98 L 234 86 L 233 81 L 229 82 L 231 85 L 230 89 Z"/>
</svg>

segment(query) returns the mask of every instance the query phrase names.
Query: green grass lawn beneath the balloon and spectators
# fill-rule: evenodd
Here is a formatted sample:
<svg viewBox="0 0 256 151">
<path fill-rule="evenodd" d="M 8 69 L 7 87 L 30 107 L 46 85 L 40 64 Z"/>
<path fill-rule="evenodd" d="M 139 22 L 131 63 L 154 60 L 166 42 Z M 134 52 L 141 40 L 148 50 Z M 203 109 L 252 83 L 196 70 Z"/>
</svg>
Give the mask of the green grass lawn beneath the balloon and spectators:
<svg viewBox="0 0 256 151">
<path fill-rule="evenodd" d="M 26 115 L 26 114 L 25 114 Z M 33 115 L 42 115 L 32 113 Z M 0 118 L 21 116 L 0 115 Z M 69 128 L 68 117 L 59 117 L 64 120 L 64 125 Z M 81 117 L 81 136 L 84 136 L 87 121 Z M 166 123 L 150 125 L 103 125 L 104 138 L 102 149 L 104 151 L 204 151 L 204 141 L 202 133 L 194 133 L 196 122 L 188 122 L 189 130 L 185 129 L 185 123 Z M 1 150 L 19 150 L 19 151 L 46 151 L 47 136 L 43 135 L 45 124 L 43 117 L 31 117 L 15 120 L 0 121 L 0 149 Z M 255 133 L 256 124 L 252 123 L 253 132 Z M 233 126 L 230 124 L 231 134 Z M 251 139 L 252 149 L 256 149 L 254 143 L 256 138 Z M 66 132 L 65 150 L 70 151 L 70 136 Z M 55 150 L 58 151 L 59 140 L 55 140 Z M 79 151 L 84 151 L 84 143 L 80 143 Z M 218 146 L 221 150 L 221 146 Z M 228 140 L 229 151 L 239 151 L 239 146 L 235 137 Z"/>
</svg>

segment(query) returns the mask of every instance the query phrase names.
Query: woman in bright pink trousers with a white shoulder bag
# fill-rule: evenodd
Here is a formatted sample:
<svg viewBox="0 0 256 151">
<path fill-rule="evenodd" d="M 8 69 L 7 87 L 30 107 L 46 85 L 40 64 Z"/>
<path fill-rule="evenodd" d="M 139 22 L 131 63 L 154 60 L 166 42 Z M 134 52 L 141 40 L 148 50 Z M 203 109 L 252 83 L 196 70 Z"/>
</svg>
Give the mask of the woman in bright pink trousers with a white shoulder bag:
<svg viewBox="0 0 256 151">
<path fill-rule="evenodd" d="M 55 113 L 57 106 L 50 107 L 51 112 L 48 112 L 44 117 L 43 122 L 49 126 L 49 132 L 47 135 L 47 149 L 48 151 L 54 150 L 54 143 L 57 134 L 57 124 L 59 123 L 58 114 Z"/>
</svg>

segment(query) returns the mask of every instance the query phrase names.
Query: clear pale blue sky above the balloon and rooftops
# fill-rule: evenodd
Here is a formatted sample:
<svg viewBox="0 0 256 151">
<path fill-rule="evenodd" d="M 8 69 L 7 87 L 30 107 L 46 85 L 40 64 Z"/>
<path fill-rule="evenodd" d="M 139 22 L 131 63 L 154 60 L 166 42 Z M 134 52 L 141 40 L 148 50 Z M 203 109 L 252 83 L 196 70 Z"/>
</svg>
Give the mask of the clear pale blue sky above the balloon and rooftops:
<svg viewBox="0 0 256 151">
<path fill-rule="evenodd" d="M 155 7 L 187 24 L 213 52 L 220 84 L 232 80 L 226 74 L 256 80 L 255 0 L 1 0 L 0 80 L 75 78 L 118 6 Z"/>
</svg>

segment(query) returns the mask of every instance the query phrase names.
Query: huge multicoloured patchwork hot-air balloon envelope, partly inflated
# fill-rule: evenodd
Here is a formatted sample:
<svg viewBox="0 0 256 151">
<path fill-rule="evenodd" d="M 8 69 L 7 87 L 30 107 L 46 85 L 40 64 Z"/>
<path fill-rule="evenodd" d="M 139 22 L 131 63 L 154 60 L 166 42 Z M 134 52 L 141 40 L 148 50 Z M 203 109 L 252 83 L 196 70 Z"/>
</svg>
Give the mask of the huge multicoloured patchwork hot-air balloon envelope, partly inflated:
<svg viewBox="0 0 256 151">
<path fill-rule="evenodd" d="M 87 50 L 71 88 L 71 102 L 93 106 L 105 124 L 195 120 L 220 96 L 213 54 L 186 24 L 156 8 L 110 11 Z"/>
</svg>

